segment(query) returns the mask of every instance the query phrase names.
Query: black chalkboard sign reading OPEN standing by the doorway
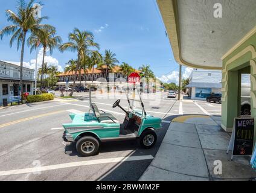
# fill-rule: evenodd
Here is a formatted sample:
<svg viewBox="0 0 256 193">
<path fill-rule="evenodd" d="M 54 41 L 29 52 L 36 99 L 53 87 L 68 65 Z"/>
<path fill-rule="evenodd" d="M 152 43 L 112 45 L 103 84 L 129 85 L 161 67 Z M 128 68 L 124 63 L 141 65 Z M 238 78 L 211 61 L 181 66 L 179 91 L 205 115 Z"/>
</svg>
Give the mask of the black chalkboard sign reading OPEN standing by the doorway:
<svg viewBox="0 0 256 193">
<path fill-rule="evenodd" d="M 235 118 L 228 151 L 232 150 L 232 157 L 233 156 L 251 156 L 253 151 L 253 146 L 254 146 L 254 118 L 251 118 L 251 117 Z"/>
</svg>

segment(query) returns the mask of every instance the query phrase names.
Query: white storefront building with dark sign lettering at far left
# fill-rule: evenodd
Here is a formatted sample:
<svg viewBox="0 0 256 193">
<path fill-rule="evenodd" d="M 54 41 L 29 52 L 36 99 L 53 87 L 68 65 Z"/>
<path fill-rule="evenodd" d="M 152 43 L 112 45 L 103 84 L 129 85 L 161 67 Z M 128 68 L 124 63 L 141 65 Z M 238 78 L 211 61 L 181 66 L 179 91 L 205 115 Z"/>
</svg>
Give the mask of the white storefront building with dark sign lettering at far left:
<svg viewBox="0 0 256 193">
<path fill-rule="evenodd" d="M 20 66 L 0 60 L 0 106 L 2 106 L 3 99 L 10 101 L 10 96 L 20 96 L 19 89 L 20 80 Z M 34 88 L 34 70 L 23 68 L 23 92 L 33 94 Z"/>
</svg>

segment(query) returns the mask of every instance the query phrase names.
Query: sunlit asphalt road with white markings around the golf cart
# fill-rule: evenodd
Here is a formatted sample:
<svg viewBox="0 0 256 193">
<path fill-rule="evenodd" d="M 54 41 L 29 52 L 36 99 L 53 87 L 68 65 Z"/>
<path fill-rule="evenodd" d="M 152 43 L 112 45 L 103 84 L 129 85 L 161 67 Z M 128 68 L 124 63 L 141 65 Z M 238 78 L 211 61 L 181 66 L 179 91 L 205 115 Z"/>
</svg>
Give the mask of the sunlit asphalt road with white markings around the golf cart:
<svg viewBox="0 0 256 193">
<path fill-rule="evenodd" d="M 161 117 L 163 129 L 158 142 L 144 150 L 136 141 L 106 142 L 92 157 L 80 157 L 75 144 L 62 145 L 62 124 L 71 121 L 69 113 L 87 112 L 88 93 L 71 100 L 48 101 L 0 109 L 0 180 L 138 180 L 158 151 L 171 119 L 181 114 L 220 115 L 221 104 L 167 98 L 167 93 L 143 96 L 146 111 Z M 95 95 L 99 109 L 123 122 L 124 112 L 112 109 L 125 95 Z M 43 171 L 37 171 L 37 168 Z"/>
</svg>

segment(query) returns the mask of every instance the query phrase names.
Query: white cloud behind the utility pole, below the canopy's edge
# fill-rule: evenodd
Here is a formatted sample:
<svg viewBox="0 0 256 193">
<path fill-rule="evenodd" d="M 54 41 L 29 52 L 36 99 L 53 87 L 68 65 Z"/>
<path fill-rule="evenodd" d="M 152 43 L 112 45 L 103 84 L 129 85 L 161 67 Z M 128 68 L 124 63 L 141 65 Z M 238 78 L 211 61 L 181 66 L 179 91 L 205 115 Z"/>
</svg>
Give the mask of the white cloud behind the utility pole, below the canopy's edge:
<svg viewBox="0 0 256 193">
<path fill-rule="evenodd" d="M 193 68 L 185 68 L 185 72 L 182 75 L 182 78 L 189 78 Z M 176 83 L 179 84 L 179 72 L 173 71 L 169 75 L 162 75 L 162 77 L 158 77 L 163 83 Z"/>
</svg>

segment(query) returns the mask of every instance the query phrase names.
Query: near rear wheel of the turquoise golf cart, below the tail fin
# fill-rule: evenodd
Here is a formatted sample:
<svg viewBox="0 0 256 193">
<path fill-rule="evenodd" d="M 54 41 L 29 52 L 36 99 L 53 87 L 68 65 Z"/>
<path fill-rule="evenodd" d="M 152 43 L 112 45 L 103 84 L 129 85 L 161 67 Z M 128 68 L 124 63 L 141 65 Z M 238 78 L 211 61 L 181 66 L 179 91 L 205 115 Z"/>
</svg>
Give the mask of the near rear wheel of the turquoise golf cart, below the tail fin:
<svg viewBox="0 0 256 193">
<path fill-rule="evenodd" d="M 97 154 L 99 147 L 100 142 L 98 142 L 98 139 L 92 136 L 80 138 L 76 144 L 77 152 L 81 156 L 94 156 Z"/>
</svg>

